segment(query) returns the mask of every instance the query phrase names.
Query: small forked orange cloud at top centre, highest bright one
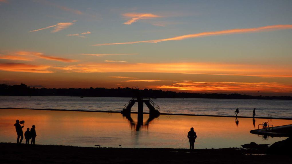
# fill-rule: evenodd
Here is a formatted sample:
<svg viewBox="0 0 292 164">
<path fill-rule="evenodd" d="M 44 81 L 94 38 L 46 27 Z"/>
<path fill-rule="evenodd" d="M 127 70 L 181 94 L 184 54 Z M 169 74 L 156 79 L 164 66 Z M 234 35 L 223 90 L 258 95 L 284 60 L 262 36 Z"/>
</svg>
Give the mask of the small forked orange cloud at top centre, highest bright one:
<svg viewBox="0 0 292 164">
<path fill-rule="evenodd" d="M 140 19 L 152 19 L 161 17 L 158 15 L 154 15 L 152 13 L 124 13 L 122 14 L 124 17 L 131 18 L 127 22 L 124 22 L 123 24 L 132 24 L 134 22 L 137 22 Z"/>
</svg>

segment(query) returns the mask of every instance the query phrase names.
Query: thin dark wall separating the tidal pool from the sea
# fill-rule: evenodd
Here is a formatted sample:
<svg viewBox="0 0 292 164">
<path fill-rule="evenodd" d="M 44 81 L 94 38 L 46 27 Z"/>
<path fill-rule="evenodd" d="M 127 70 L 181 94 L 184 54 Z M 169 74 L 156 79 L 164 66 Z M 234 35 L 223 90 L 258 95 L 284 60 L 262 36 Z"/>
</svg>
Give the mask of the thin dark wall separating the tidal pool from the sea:
<svg viewBox="0 0 292 164">
<path fill-rule="evenodd" d="M 121 113 L 119 111 L 101 111 L 101 110 L 67 110 L 67 109 L 37 109 L 37 108 L 0 108 L 1 109 L 25 109 L 25 110 L 51 110 L 51 111 L 69 111 L 69 112 L 101 112 L 101 113 Z M 132 114 L 137 114 L 138 112 L 131 112 Z M 143 114 L 149 114 L 148 112 L 143 112 Z M 160 115 L 176 115 L 176 116 L 203 116 L 203 117 L 232 117 L 236 116 L 221 116 L 221 115 L 204 115 L 204 114 L 175 114 L 175 113 L 160 113 Z M 248 117 L 248 116 L 237 116 L 237 118 L 255 118 L 255 119 L 283 119 L 292 120 L 292 118 L 279 118 L 279 117 Z"/>
</svg>

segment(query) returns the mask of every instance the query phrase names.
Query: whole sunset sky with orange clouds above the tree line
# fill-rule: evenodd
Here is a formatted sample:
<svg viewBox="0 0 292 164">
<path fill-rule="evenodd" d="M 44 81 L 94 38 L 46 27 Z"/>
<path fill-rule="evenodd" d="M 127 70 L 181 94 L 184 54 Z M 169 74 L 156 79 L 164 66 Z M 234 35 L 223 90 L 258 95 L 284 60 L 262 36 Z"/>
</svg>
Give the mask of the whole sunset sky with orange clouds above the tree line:
<svg viewBox="0 0 292 164">
<path fill-rule="evenodd" d="M 0 0 L 0 84 L 292 96 L 291 8 Z"/>
</svg>

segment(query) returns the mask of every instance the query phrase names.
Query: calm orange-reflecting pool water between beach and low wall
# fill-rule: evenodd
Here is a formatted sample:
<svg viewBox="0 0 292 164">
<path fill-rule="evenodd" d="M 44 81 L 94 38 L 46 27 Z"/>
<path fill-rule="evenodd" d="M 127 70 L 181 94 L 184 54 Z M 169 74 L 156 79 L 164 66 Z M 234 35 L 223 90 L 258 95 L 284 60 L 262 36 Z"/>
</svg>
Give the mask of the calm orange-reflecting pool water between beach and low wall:
<svg viewBox="0 0 292 164">
<path fill-rule="evenodd" d="M 25 128 L 36 126 L 36 144 L 57 144 L 94 147 L 131 148 L 188 148 L 187 132 L 194 127 L 198 138 L 196 148 L 240 147 L 256 142 L 272 144 L 286 137 L 263 138 L 249 133 L 263 121 L 274 126 L 292 124 L 292 120 L 267 120 L 202 116 L 161 115 L 148 119 L 144 114 L 143 125 L 137 125 L 137 114 L 131 118 L 119 113 L 71 112 L 24 109 L 0 109 L 0 142 L 16 142 L 13 124 L 25 120 Z M 25 140 L 23 141 L 25 142 Z"/>
</svg>

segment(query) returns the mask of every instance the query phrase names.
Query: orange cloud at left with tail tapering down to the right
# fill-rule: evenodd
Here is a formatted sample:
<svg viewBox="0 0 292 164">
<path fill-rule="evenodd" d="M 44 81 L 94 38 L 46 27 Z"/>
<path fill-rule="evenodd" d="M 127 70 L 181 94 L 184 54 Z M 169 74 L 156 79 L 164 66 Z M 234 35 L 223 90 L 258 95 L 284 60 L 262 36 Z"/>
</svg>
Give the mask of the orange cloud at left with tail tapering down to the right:
<svg viewBox="0 0 292 164">
<path fill-rule="evenodd" d="M 33 60 L 32 57 L 37 57 L 37 58 L 43 58 L 43 59 L 47 59 L 47 60 L 55 60 L 55 61 L 61 61 L 61 62 L 75 62 L 77 60 L 73 60 L 73 59 L 67 59 L 67 58 L 61 58 L 61 57 L 53 57 L 53 56 L 46 56 L 41 52 L 29 52 L 29 51 L 18 51 L 18 52 L 13 52 L 10 53 L 13 55 L 24 55 L 24 56 L 28 56 L 28 57 L 21 57 L 21 56 L 9 56 L 6 57 L 6 59 L 11 58 L 10 60 Z"/>
</svg>

